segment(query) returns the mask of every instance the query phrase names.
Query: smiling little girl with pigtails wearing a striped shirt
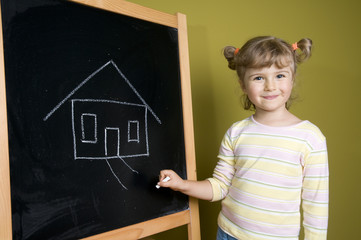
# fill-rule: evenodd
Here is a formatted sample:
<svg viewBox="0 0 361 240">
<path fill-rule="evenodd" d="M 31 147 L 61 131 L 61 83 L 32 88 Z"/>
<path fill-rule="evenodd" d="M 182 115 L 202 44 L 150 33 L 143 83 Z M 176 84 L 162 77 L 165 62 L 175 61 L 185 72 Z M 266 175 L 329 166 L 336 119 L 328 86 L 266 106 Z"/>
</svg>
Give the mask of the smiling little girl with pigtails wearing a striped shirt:
<svg viewBox="0 0 361 240">
<path fill-rule="evenodd" d="M 244 108 L 254 115 L 228 129 L 212 178 L 189 181 L 172 170 L 160 173 L 161 187 L 222 200 L 217 240 L 298 239 L 301 199 L 305 239 L 327 237 L 326 140 L 314 124 L 288 111 L 297 64 L 310 57 L 311 46 L 306 38 L 290 45 L 256 37 L 240 49 L 225 47 Z M 171 180 L 162 182 L 166 176 Z"/>
</svg>

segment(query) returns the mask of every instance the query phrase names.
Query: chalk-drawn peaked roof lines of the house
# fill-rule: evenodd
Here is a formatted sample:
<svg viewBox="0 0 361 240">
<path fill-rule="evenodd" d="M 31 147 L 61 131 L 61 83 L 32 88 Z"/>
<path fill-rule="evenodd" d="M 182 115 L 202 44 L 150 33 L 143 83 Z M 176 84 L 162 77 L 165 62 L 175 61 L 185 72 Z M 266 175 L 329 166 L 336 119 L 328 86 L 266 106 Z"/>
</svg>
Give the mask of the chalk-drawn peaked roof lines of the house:
<svg viewBox="0 0 361 240">
<path fill-rule="evenodd" d="M 82 86 L 84 86 L 90 79 L 92 79 L 97 73 L 99 73 L 100 71 L 102 71 L 106 66 L 108 65 L 112 65 L 116 71 L 119 73 L 119 75 L 122 76 L 122 78 L 124 79 L 124 81 L 128 84 L 128 86 L 133 90 L 133 92 L 137 95 L 137 97 L 139 98 L 139 100 L 144 104 L 144 106 L 149 110 L 149 112 L 153 115 L 153 117 L 157 120 L 157 122 L 159 124 L 161 124 L 162 122 L 160 121 L 160 119 L 158 118 L 158 116 L 154 113 L 154 111 L 150 108 L 150 106 L 146 103 L 146 101 L 142 98 L 142 96 L 140 96 L 140 94 L 138 93 L 138 91 L 134 88 L 134 86 L 130 83 L 130 81 L 125 77 L 125 75 L 120 71 L 120 69 L 118 68 L 118 66 L 114 63 L 113 60 L 110 60 L 109 62 L 107 62 L 106 64 L 104 64 L 103 66 L 101 66 L 100 68 L 98 68 L 96 71 L 94 71 L 92 74 L 90 74 L 85 80 L 83 80 L 76 88 L 73 89 L 73 91 L 71 91 L 61 102 L 59 102 L 44 118 L 43 120 L 46 121 L 48 120 L 53 113 L 55 113 L 66 101 L 68 101 Z"/>
</svg>

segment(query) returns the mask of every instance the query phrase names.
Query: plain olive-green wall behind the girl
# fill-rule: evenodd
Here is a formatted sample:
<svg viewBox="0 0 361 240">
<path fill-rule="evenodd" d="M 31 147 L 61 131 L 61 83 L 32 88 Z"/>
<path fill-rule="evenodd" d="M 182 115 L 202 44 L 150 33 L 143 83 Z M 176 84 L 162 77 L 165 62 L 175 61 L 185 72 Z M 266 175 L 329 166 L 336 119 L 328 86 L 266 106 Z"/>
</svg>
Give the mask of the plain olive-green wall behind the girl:
<svg viewBox="0 0 361 240">
<path fill-rule="evenodd" d="M 131 0 L 187 15 L 198 179 L 211 176 L 220 141 L 240 107 L 235 72 L 221 50 L 250 37 L 275 35 L 290 43 L 314 41 L 311 59 L 298 71 L 299 101 L 291 111 L 318 125 L 327 137 L 330 164 L 329 240 L 359 239 L 361 217 L 361 2 L 289 0 Z M 203 240 L 215 239 L 219 203 L 200 201 Z M 186 227 L 157 240 L 187 239 Z"/>
</svg>

